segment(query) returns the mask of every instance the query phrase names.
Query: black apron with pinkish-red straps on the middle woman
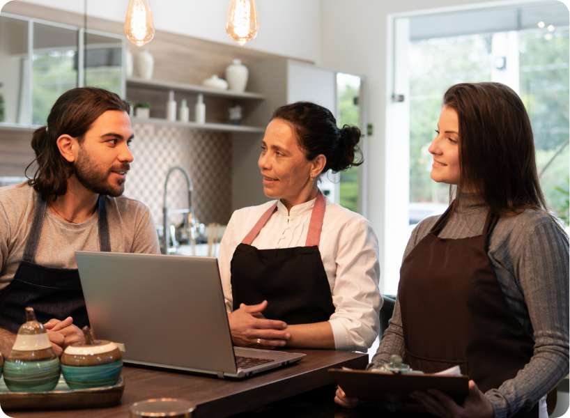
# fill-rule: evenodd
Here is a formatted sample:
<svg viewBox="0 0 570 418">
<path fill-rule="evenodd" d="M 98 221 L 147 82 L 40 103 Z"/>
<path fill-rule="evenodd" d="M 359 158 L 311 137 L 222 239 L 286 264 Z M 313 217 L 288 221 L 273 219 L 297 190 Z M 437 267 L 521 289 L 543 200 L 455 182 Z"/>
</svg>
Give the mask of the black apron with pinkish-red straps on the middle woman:
<svg viewBox="0 0 570 418">
<path fill-rule="evenodd" d="M 231 259 L 233 309 L 268 301 L 263 316 L 289 325 L 324 322 L 334 313 L 332 295 L 318 243 L 325 217 L 319 190 L 305 247 L 257 249 L 252 242 L 277 210 L 277 202 L 259 219 Z"/>
</svg>

